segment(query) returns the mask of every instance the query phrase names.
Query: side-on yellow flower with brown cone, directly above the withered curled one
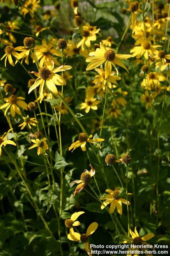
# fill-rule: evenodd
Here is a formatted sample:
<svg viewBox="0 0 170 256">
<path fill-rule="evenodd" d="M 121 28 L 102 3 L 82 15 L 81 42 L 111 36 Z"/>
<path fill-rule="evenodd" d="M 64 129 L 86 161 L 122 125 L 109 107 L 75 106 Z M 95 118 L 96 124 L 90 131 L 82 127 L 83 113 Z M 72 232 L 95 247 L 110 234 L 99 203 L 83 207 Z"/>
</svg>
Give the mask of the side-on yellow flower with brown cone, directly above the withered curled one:
<svg viewBox="0 0 170 256">
<path fill-rule="evenodd" d="M 68 150 L 70 151 L 71 149 L 73 149 L 73 150 L 72 150 L 72 152 L 73 152 L 76 148 L 81 147 L 81 149 L 82 149 L 83 151 L 86 151 L 86 142 L 96 144 L 96 145 L 99 146 L 99 148 L 102 148 L 102 147 L 101 147 L 98 143 L 96 143 L 96 142 L 102 142 L 102 141 L 104 141 L 104 139 L 100 139 L 100 138 L 91 139 L 92 137 L 93 137 L 92 134 L 91 134 L 91 135 L 89 136 L 89 138 L 88 138 L 88 136 L 87 136 L 84 132 L 81 132 L 81 133 L 79 134 L 79 136 L 78 136 L 78 140 L 77 140 L 76 142 L 73 142 L 73 143 L 71 144 L 71 146 L 68 148 Z"/>
</svg>

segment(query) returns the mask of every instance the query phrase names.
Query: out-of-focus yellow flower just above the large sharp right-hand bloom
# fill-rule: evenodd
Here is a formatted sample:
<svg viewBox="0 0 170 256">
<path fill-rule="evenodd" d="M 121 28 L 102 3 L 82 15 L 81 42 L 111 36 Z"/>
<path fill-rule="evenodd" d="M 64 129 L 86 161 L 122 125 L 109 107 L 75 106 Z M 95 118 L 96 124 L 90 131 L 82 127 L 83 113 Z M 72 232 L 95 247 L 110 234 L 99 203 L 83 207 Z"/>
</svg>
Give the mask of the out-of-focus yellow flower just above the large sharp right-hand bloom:
<svg viewBox="0 0 170 256">
<path fill-rule="evenodd" d="M 91 30 L 92 29 L 92 30 Z M 77 44 L 77 48 L 82 46 L 82 50 L 84 51 L 84 46 L 86 45 L 88 48 L 91 48 L 90 41 L 96 41 L 96 34 L 100 31 L 100 28 L 96 30 L 96 27 L 90 26 L 90 24 L 86 24 L 83 26 L 82 30 L 82 40 Z"/>
</svg>

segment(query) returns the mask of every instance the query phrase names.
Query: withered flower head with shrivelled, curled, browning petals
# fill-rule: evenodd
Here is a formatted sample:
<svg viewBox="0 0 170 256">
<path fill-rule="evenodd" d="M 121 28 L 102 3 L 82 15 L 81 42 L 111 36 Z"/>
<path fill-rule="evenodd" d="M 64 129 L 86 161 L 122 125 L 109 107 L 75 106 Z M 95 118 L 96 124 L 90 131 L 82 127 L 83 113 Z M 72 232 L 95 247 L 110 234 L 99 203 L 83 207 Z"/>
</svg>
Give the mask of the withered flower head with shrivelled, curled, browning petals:
<svg viewBox="0 0 170 256">
<path fill-rule="evenodd" d="M 92 176 L 94 176 L 95 174 L 95 170 L 93 168 L 93 166 L 90 164 L 91 170 L 90 172 L 88 170 L 84 170 L 84 172 L 81 174 L 80 176 L 80 180 L 74 180 L 70 183 L 70 185 L 72 183 L 77 183 L 78 186 L 76 186 L 76 189 L 74 191 L 74 195 L 73 197 L 79 193 L 80 191 L 82 191 L 82 189 L 84 188 L 84 186 L 86 186 L 86 184 L 88 184 L 92 178 Z"/>
</svg>

